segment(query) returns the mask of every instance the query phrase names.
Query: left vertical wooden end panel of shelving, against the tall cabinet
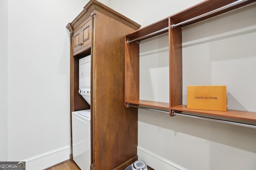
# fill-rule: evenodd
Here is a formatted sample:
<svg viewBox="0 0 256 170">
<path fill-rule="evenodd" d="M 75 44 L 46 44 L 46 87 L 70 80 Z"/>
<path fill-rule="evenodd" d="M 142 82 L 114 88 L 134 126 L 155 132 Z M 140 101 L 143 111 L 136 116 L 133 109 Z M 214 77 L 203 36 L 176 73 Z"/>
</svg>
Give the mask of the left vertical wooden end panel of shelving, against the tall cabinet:
<svg viewBox="0 0 256 170">
<path fill-rule="evenodd" d="M 140 94 L 140 55 L 139 44 L 124 42 L 124 105 L 127 101 L 139 100 Z"/>
</svg>

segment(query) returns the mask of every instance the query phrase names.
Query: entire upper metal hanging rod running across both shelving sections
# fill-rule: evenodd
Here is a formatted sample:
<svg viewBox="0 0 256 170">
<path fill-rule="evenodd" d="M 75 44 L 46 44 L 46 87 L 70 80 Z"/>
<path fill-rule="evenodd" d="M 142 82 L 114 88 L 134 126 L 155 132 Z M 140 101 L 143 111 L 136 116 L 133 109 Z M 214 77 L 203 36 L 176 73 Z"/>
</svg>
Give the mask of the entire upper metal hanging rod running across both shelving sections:
<svg viewBox="0 0 256 170">
<path fill-rule="evenodd" d="M 218 8 L 218 9 L 216 9 L 216 10 L 207 12 L 207 13 L 205 13 L 205 14 L 202 14 L 202 15 L 200 15 L 200 16 L 191 18 L 191 19 L 189 19 L 189 20 L 182 21 L 182 22 L 176 23 L 176 24 L 173 23 L 173 24 L 171 25 L 171 27 L 174 28 L 174 27 L 180 26 L 180 25 L 182 25 L 182 24 L 185 24 L 185 23 L 188 23 L 188 22 L 191 22 L 191 21 L 194 21 L 194 20 L 203 18 L 203 17 L 208 16 L 208 15 L 210 15 L 210 14 L 214 14 L 215 12 L 219 12 L 219 11 L 221 11 L 221 10 L 224 10 L 224 9 L 226 9 L 226 8 L 229 8 L 229 7 L 232 7 L 232 6 L 235 6 L 235 5 L 238 5 L 238 4 L 240 4 L 240 3 L 242 3 L 242 2 L 246 2 L 246 1 L 248 1 L 248 0 L 238 0 L 238 1 L 236 1 L 236 2 L 232 2 L 231 4 L 228 4 L 228 5 L 226 5 L 226 6 L 222 6 L 222 7 Z M 138 40 L 143 39 L 143 38 L 146 38 L 146 37 L 150 37 L 150 36 L 155 35 L 155 34 L 157 34 L 157 33 L 161 33 L 161 32 L 166 31 L 166 30 L 168 30 L 168 29 L 169 29 L 169 27 L 166 27 L 166 28 L 161 29 L 161 30 L 159 30 L 159 31 L 150 33 L 150 34 L 148 34 L 148 35 L 144 35 L 144 36 L 142 36 L 142 37 L 139 37 L 139 38 L 136 38 L 136 39 L 133 39 L 133 40 L 127 40 L 127 44 L 132 43 L 132 42 L 134 42 L 134 41 L 138 41 Z M 137 43 L 138 43 L 138 42 L 137 42 Z"/>
</svg>

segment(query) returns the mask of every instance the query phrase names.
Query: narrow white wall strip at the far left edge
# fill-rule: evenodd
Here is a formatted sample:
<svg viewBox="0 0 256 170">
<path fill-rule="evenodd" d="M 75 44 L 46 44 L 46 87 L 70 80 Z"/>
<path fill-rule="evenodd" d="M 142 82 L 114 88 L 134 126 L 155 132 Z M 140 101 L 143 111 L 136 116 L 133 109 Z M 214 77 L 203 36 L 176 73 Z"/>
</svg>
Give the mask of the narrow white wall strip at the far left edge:
<svg viewBox="0 0 256 170">
<path fill-rule="evenodd" d="M 8 1 L 0 1 L 0 161 L 7 161 Z"/>
</svg>

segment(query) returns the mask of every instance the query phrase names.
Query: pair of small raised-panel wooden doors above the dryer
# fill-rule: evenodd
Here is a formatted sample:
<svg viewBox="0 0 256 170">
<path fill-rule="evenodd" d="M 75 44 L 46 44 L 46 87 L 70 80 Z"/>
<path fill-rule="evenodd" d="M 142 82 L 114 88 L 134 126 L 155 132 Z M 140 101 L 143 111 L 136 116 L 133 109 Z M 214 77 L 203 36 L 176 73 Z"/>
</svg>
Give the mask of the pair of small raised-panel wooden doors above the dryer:
<svg viewBox="0 0 256 170">
<path fill-rule="evenodd" d="M 92 41 L 92 20 L 89 20 L 74 33 L 74 53 L 80 53 L 90 47 Z"/>
</svg>

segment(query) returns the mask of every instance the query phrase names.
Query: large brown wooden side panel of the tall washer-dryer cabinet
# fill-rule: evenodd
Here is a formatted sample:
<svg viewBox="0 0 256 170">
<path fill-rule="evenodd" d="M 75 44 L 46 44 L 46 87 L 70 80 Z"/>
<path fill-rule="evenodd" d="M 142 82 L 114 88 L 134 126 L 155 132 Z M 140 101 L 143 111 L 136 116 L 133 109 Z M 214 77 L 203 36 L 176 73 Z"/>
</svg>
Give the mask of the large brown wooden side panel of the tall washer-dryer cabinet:
<svg viewBox="0 0 256 170">
<path fill-rule="evenodd" d="M 138 109 L 124 107 L 124 35 L 134 29 L 98 12 L 94 17 L 93 157 L 96 170 L 112 170 L 137 156 Z"/>
</svg>

